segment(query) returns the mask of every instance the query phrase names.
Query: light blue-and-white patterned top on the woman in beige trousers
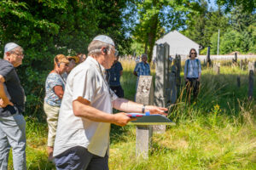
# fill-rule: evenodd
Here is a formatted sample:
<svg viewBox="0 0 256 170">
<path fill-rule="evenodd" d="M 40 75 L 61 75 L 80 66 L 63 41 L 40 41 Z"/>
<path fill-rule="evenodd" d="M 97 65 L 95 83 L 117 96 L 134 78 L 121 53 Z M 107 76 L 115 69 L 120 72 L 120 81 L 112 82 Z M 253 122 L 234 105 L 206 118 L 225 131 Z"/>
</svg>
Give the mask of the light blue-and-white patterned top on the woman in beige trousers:
<svg viewBox="0 0 256 170">
<path fill-rule="evenodd" d="M 61 86 L 65 89 L 65 80 L 57 73 L 49 73 L 45 82 L 45 98 L 44 101 L 48 105 L 61 106 L 61 99 L 55 94 L 54 87 Z"/>
</svg>

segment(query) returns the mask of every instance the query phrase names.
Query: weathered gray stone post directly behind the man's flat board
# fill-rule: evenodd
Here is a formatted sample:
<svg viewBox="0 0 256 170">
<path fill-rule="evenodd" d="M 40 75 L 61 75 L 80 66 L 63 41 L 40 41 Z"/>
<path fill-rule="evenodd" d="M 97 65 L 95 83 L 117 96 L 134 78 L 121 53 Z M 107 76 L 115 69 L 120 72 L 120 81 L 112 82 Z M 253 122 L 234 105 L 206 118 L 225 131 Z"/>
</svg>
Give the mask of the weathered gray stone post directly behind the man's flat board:
<svg viewBox="0 0 256 170">
<path fill-rule="evenodd" d="M 152 76 L 139 77 L 137 95 L 137 103 L 143 105 L 153 105 L 154 103 L 154 87 Z M 136 156 L 148 159 L 148 150 L 152 142 L 152 126 L 136 127 Z"/>
</svg>

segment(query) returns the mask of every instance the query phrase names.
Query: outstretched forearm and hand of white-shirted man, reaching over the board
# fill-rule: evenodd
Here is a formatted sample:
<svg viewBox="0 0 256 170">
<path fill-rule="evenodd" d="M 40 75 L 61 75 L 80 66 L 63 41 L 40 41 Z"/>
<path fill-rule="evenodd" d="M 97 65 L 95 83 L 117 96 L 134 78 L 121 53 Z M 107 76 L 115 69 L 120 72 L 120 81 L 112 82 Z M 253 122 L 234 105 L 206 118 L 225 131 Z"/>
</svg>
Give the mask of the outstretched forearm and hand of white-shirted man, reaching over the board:
<svg viewBox="0 0 256 170">
<path fill-rule="evenodd" d="M 117 109 L 119 111 L 125 111 L 125 112 L 137 112 L 142 113 L 143 112 L 143 105 L 135 103 L 133 101 L 130 101 L 128 99 L 122 99 L 118 98 L 113 100 L 113 108 Z M 161 114 L 161 115 L 167 115 L 165 111 L 168 111 L 166 108 L 163 107 L 157 107 L 154 105 L 146 105 L 145 111 L 149 111 L 150 114 Z"/>
</svg>

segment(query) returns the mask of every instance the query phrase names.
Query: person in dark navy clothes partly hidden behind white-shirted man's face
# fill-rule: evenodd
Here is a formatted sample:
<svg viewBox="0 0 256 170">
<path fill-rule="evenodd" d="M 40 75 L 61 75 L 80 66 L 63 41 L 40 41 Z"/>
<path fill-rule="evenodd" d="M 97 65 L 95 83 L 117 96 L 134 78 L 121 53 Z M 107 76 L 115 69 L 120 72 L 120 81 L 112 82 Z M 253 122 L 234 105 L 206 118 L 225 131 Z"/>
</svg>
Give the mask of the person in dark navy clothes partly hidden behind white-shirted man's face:
<svg viewBox="0 0 256 170">
<path fill-rule="evenodd" d="M 124 90 L 121 87 L 120 77 L 123 74 L 123 67 L 119 62 L 119 56 L 116 56 L 113 65 L 107 70 L 109 87 L 119 97 L 124 98 Z"/>
</svg>

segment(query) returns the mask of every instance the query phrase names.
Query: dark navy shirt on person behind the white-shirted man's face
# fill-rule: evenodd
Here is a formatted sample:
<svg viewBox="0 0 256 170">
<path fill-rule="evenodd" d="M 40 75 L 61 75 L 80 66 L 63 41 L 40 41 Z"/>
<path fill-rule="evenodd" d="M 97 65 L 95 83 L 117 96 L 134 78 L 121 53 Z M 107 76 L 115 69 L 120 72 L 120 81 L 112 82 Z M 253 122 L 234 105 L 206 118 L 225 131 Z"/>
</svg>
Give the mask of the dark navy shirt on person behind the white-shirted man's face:
<svg viewBox="0 0 256 170">
<path fill-rule="evenodd" d="M 110 86 L 120 86 L 120 71 L 123 71 L 123 67 L 119 61 L 114 63 L 108 71 L 108 82 Z"/>
</svg>

